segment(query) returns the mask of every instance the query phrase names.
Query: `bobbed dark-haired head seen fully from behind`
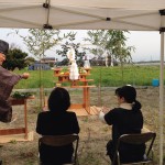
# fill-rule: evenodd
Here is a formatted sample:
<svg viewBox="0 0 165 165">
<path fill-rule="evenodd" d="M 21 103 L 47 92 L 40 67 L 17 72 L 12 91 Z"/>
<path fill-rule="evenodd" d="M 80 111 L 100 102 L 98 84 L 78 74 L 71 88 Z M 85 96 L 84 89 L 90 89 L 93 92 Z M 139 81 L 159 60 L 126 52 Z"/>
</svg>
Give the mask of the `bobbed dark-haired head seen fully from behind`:
<svg viewBox="0 0 165 165">
<path fill-rule="evenodd" d="M 65 88 L 56 87 L 50 95 L 48 109 L 50 111 L 63 112 L 70 107 L 70 96 Z"/>
</svg>

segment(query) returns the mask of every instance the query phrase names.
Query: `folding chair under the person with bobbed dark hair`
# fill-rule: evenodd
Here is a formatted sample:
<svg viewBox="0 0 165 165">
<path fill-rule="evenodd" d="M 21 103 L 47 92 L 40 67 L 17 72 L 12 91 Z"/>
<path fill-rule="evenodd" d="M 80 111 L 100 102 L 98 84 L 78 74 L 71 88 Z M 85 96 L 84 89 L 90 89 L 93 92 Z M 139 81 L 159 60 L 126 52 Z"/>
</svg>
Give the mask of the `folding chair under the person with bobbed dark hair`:
<svg viewBox="0 0 165 165">
<path fill-rule="evenodd" d="M 74 156 L 73 156 L 73 161 L 69 164 L 66 165 L 78 165 L 78 156 L 77 156 L 77 152 L 78 152 L 78 143 L 79 143 L 79 136 L 78 134 L 67 134 L 67 135 L 44 135 L 42 138 L 38 139 L 38 151 L 40 151 L 40 146 L 41 144 L 46 144 L 46 145 L 51 145 L 51 146 L 64 146 L 67 144 L 72 144 L 73 142 L 75 142 L 75 150 L 74 150 Z M 42 165 L 42 162 L 40 163 L 40 165 Z"/>
</svg>

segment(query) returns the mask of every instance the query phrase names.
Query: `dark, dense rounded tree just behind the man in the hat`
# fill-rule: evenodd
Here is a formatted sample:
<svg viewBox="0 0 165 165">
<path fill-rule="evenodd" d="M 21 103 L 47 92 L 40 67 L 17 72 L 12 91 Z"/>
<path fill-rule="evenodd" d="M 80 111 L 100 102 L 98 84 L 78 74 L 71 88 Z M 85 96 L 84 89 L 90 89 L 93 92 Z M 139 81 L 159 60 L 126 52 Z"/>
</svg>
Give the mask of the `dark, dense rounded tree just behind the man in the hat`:
<svg viewBox="0 0 165 165">
<path fill-rule="evenodd" d="M 3 63 L 3 67 L 9 70 L 23 69 L 28 66 L 25 63 L 28 53 L 22 52 L 20 48 L 11 47 L 6 56 L 7 59 Z"/>
</svg>

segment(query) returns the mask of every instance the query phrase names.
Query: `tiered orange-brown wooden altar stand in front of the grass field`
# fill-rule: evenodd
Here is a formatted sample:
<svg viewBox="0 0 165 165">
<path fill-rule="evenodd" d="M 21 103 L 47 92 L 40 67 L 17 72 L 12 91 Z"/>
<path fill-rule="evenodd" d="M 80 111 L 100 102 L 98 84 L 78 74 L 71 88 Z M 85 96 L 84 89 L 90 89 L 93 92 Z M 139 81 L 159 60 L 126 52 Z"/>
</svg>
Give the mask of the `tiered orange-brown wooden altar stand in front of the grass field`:
<svg viewBox="0 0 165 165">
<path fill-rule="evenodd" d="M 54 76 L 58 77 L 56 86 L 61 86 L 63 82 L 70 82 L 70 88 L 82 88 L 82 103 L 73 103 L 70 109 L 85 109 L 90 114 L 90 97 L 89 89 L 96 86 L 89 86 L 88 82 L 94 79 L 87 79 L 90 75 L 90 68 L 85 68 L 86 74 L 79 74 L 78 80 L 70 80 L 69 74 L 61 74 L 62 68 L 54 69 Z M 80 85 L 81 84 L 81 85 Z"/>
</svg>

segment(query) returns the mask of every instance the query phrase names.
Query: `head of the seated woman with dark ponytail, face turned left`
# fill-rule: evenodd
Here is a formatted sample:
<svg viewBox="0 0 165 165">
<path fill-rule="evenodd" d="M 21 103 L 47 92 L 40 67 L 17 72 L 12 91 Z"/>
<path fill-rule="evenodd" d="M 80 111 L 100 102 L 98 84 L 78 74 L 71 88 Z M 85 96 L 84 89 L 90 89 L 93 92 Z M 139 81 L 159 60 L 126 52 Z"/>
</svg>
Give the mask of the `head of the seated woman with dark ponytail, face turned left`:
<svg viewBox="0 0 165 165">
<path fill-rule="evenodd" d="M 128 85 L 116 89 L 119 103 L 132 103 L 132 110 L 140 110 L 141 103 L 136 100 L 136 90 L 134 87 Z"/>
</svg>

